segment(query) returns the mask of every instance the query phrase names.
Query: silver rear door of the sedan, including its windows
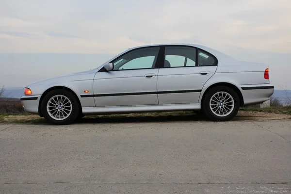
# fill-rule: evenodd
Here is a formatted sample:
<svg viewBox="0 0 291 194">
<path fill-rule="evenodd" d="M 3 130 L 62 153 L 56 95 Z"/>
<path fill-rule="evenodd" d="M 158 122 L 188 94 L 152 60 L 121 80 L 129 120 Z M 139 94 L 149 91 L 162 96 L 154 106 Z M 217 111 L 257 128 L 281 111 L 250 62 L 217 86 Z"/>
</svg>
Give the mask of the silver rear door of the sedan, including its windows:
<svg viewBox="0 0 291 194">
<path fill-rule="evenodd" d="M 198 103 L 203 85 L 215 73 L 217 59 L 190 46 L 165 46 L 158 73 L 159 104 Z"/>
</svg>

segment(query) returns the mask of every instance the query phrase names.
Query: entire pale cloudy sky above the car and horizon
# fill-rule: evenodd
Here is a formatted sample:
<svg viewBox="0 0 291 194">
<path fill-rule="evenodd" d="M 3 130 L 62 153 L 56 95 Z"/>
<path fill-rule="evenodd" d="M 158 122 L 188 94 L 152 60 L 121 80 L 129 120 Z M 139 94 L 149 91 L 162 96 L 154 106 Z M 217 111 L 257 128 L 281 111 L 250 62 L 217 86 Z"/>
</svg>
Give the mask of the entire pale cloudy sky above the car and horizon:
<svg viewBox="0 0 291 194">
<path fill-rule="evenodd" d="M 291 89 L 291 0 L 1 0 L 0 85 L 96 68 L 141 45 L 191 43 L 266 63 Z"/>
</svg>

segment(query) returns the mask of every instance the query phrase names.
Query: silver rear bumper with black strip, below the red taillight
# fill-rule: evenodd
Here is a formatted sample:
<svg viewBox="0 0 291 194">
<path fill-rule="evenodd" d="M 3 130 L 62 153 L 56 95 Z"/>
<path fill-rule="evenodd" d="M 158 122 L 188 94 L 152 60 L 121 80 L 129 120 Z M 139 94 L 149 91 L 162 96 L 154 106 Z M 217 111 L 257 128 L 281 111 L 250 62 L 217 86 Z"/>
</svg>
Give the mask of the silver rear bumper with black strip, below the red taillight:
<svg viewBox="0 0 291 194">
<path fill-rule="evenodd" d="M 272 84 L 238 85 L 238 87 L 242 92 L 244 106 L 261 104 L 274 94 Z"/>
</svg>

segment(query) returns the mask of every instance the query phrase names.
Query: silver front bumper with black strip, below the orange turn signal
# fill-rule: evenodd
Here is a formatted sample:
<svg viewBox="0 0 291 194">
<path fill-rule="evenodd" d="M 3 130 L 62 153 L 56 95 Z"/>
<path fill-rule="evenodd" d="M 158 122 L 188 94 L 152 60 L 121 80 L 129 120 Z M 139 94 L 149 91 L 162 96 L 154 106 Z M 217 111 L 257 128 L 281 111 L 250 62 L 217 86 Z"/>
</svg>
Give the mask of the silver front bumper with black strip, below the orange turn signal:
<svg viewBox="0 0 291 194">
<path fill-rule="evenodd" d="M 28 113 L 38 114 L 40 95 L 24 96 L 20 98 L 24 110 Z"/>
</svg>

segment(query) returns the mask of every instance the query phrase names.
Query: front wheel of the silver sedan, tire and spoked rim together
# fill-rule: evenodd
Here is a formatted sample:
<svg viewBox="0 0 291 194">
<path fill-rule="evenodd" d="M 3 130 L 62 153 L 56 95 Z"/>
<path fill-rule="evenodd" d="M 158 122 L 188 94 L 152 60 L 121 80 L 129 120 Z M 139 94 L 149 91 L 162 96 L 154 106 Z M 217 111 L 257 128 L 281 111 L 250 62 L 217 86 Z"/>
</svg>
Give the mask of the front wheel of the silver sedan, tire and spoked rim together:
<svg viewBox="0 0 291 194">
<path fill-rule="evenodd" d="M 41 103 L 41 111 L 49 123 L 53 125 L 68 125 L 73 123 L 79 116 L 80 105 L 73 93 L 65 89 L 56 89 L 50 91 L 44 97 Z"/>
</svg>

